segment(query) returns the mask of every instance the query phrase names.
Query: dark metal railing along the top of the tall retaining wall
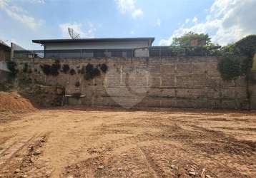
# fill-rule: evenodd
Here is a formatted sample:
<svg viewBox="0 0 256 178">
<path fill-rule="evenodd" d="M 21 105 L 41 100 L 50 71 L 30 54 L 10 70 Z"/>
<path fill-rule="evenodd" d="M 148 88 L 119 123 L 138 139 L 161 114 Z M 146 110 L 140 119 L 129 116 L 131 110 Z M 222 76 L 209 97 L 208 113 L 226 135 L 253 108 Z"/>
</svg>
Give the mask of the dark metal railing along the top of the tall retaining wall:
<svg viewBox="0 0 256 178">
<path fill-rule="evenodd" d="M 145 57 L 174 57 L 174 56 L 214 56 L 214 48 L 203 46 L 169 47 L 152 46 L 149 48 L 149 56 Z M 102 58 L 102 57 L 136 57 L 137 49 L 72 49 L 72 50 L 36 50 L 36 51 L 14 51 L 14 58 Z"/>
</svg>

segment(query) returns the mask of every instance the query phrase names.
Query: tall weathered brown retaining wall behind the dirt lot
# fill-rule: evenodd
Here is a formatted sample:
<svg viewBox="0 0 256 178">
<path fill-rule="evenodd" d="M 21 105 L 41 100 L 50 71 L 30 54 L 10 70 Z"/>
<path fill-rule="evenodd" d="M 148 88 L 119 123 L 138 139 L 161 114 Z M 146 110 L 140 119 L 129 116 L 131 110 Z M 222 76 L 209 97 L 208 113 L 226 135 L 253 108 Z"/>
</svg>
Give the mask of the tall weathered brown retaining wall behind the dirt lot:
<svg viewBox="0 0 256 178">
<path fill-rule="evenodd" d="M 67 94 L 85 95 L 79 100 L 69 98 L 70 105 L 247 108 L 245 78 L 222 80 L 217 70 L 218 60 L 220 58 L 215 57 L 59 59 L 77 74 L 59 73 L 57 77 L 44 75 L 40 68 L 44 63 L 54 63 L 54 59 L 19 59 L 17 62 L 19 68 L 29 63 L 31 78 L 36 83 L 63 85 Z M 105 63 L 107 73 L 85 80 L 79 70 L 87 63 L 94 66 Z M 79 87 L 75 86 L 77 81 Z"/>
</svg>

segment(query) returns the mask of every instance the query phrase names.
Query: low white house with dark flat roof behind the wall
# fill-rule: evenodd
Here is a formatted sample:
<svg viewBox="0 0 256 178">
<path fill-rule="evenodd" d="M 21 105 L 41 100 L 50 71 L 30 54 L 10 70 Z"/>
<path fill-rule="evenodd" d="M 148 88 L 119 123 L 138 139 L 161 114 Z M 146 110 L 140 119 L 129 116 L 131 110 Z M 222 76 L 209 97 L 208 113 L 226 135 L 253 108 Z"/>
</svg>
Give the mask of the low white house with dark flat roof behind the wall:
<svg viewBox="0 0 256 178">
<path fill-rule="evenodd" d="M 83 38 L 33 40 L 45 57 L 148 57 L 154 38 Z"/>
</svg>

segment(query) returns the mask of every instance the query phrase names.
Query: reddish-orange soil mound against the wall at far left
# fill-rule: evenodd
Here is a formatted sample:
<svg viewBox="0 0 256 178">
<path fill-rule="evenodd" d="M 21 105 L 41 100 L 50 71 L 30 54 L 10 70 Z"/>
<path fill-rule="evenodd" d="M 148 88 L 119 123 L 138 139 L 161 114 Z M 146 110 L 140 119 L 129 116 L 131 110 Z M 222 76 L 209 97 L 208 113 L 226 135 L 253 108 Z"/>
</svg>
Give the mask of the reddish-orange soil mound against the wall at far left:
<svg viewBox="0 0 256 178">
<path fill-rule="evenodd" d="M 23 112 L 36 110 L 26 98 L 15 92 L 0 92 L 0 112 Z"/>
</svg>

